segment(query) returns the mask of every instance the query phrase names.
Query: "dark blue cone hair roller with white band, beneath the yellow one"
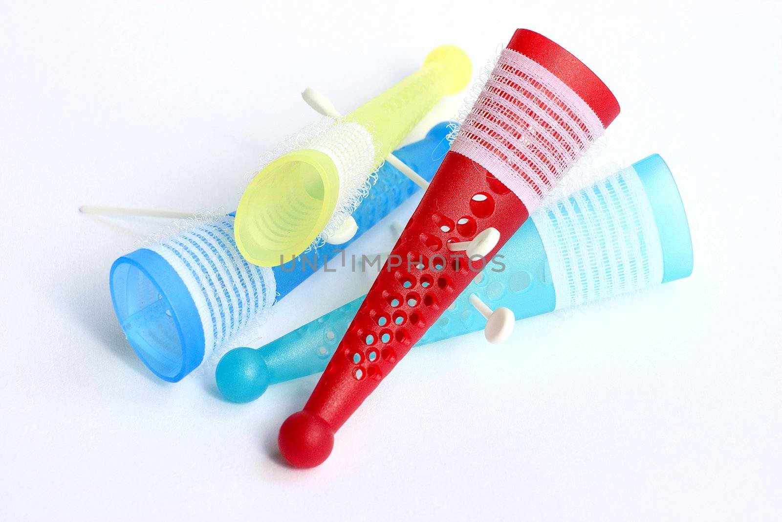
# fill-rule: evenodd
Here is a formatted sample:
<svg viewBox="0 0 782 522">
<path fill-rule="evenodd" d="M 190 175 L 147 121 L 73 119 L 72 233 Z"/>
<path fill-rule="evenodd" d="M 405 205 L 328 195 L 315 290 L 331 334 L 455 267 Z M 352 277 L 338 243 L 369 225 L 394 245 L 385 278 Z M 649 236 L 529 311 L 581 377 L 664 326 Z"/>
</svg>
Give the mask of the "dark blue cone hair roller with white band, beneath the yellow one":
<svg viewBox="0 0 782 522">
<path fill-rule="evenodd" d="M 448 123 L 396 155 L 431 179 L 448 150 Z M 361 236 L 418 187 L 386 164 L 368 197 L 353 213 Z M 112 211 L 116 209 L 110 209 Z M 250 265 L 234 241 L 234 218 L 195 222 L 185 230 L 114 262 L 109 286 L 125 337 L 142 361 L 163 380 L 177 382 L 211 351 L 229 346 L 246 326 L 266 315 L 304 279 L 349 243 L 325 244 L 306 260 L 274 268 Z M 354 239 L 356 239 L 354 238 Z"/>
</svg>

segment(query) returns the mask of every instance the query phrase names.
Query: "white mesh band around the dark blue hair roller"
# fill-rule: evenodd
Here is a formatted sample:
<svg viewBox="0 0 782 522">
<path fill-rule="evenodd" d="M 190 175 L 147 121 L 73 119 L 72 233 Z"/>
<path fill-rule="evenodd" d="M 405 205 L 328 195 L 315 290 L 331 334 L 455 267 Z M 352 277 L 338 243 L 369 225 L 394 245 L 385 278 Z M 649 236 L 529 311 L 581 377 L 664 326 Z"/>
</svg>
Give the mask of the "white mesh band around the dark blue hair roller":
<svg viewBox="0 0 782 522">
<path fill-rule="evenodd" d="M 159 235 L 145 248 L 168 261 L 187 286 L 203 326 L 206 359 L 242 329 L 264 319 L 274 304 L 274 274 L 239 254 L 231 216 L 175 229 L 177 233 Z"/>
</svg>

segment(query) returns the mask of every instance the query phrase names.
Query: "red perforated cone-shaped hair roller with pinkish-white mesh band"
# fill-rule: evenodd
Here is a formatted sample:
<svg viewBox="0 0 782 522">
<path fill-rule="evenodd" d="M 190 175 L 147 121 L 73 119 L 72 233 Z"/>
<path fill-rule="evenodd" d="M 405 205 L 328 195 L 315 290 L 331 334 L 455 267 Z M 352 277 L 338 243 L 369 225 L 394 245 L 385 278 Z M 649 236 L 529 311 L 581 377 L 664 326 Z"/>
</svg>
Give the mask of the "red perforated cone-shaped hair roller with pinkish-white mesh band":
<svg viewBox="0 0 782 522">
<path fill-rule="evenodd" d="M 282 424 L 278 443 L 292 466 L 328 458 L 336 430 L 618 113 L 578 59 L 515 32 L 309 401 Z M 475 238 L 481 259 L 449 247 Z M 403 322 L 391 320 L 400 314 Z"/>
</svg>

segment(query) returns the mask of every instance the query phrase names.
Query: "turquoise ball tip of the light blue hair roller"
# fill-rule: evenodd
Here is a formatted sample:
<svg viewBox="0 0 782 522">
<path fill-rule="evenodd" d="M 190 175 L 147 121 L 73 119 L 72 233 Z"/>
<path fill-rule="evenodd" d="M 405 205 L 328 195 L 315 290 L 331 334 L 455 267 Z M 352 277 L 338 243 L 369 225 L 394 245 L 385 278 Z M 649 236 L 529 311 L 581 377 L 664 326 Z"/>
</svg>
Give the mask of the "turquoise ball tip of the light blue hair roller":
<svg viewBox="0 0 782 522">
<path fill-rule="evenodd" d="M 223 355 L 214 373 L 217 389 L 231 402 L 254 401 L 269 386 L 269 369 L 260 350 L 234 348 Z"/>
</svg>

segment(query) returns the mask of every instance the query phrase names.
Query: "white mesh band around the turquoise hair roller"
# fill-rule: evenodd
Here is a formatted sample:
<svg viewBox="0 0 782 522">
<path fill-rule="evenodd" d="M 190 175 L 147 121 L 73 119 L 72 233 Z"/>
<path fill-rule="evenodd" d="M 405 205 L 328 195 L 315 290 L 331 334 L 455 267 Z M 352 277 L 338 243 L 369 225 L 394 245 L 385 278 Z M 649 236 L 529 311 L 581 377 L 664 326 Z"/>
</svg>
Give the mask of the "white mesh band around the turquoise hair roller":
<svg viewBox="0 0 782 522">
<path fill-rule="evenodd" d="M 628 167 L 531 216 L 557 308 L 662 283 L 662 248 L 644 187 Z"/>
</svg>

